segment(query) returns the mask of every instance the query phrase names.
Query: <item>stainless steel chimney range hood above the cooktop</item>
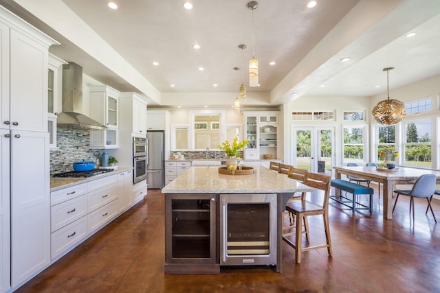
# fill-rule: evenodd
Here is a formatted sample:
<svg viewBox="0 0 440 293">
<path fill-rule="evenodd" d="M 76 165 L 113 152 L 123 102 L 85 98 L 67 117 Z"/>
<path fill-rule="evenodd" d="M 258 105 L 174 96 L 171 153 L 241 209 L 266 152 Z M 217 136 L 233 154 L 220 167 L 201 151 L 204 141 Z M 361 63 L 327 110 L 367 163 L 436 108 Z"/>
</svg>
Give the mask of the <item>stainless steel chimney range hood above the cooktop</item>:
<svg viewBox="0 0 440 293">
<path fill-rule="evenodd" d="M 74 62 L 63 65 L 63 108 L 56 125 L 109 129 L 83 114 L 83 67 Z"/>
</svg>

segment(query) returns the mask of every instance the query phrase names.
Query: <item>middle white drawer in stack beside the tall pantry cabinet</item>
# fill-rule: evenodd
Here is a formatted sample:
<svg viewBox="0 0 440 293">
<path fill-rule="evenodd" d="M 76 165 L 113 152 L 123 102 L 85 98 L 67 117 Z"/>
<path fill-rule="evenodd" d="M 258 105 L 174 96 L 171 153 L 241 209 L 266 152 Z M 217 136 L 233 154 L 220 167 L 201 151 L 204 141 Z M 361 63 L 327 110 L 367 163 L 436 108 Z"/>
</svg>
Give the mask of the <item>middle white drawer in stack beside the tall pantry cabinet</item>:
<svg viewBox="0 0 440 293">
<path fill-rule="evenodd" d="M 87 196 L 72 198 L 67 202 L 56 204 L 50 208 L 51 232 L 63 228 L 67 224 L 87 215 Z"/>
</svg>

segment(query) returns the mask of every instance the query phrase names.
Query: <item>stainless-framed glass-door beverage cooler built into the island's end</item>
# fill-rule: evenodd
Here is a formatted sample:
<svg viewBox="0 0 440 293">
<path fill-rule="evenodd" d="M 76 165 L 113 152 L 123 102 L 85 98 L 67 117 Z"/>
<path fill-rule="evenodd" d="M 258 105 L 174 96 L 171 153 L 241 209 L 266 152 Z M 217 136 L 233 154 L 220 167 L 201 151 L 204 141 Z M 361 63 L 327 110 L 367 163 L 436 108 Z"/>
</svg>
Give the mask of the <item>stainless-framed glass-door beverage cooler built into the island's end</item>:
<svg viewBox="0 0 440 293">
<path fill-rule="evenodd" d="M 220 265 L 276 266 L 276 194 L 221 194 Z"/>
</svg>

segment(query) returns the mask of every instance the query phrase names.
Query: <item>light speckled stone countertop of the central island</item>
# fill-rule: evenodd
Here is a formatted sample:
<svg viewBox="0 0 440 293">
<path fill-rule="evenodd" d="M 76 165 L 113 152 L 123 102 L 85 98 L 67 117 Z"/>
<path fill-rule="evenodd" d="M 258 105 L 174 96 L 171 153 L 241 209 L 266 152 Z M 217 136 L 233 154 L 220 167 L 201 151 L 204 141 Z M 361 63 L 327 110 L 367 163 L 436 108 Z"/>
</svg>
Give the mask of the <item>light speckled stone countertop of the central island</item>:
<svg viewBox="0 0 440 293">
<path fill-rule="evenodd" d="M 311 191 L 285 174 L 255 165 L 254 174 L 219 174 L 219 166 L 201 165 L 188 168 L 162 189 L 164 194 L 253 194 Z"/>
</svg>

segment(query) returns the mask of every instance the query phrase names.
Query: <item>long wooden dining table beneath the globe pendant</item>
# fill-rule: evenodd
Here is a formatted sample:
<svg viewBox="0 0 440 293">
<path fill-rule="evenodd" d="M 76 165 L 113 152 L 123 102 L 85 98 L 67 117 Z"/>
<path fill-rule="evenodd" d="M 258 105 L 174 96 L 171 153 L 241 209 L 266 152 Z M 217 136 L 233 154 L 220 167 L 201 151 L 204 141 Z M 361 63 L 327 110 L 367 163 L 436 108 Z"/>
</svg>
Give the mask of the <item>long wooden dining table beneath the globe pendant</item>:
<svg viewBox="0 0 440 293">
<path fill-rule="evenodd" d="M 437 176 L 437 184 L 440 184 L 440 171 L 433 169 L 421 169 L 415 167 L 397 166 L 394 169 L 377 166 L 338 166 L 333 167 L 335 178 L 342 179 L 342 175 L 351 175 L 364 178 L 383 185 L 383 215 L 385 219 L 393 219 L 393 191 L 396 185 L 414 184 L 417 178 L 423 174 Z M 336 194 L 338 194 L 338 190 Z"/>
</svg>

